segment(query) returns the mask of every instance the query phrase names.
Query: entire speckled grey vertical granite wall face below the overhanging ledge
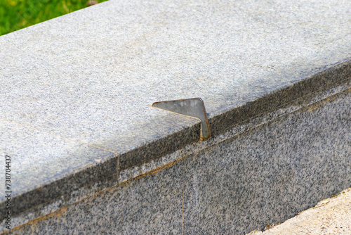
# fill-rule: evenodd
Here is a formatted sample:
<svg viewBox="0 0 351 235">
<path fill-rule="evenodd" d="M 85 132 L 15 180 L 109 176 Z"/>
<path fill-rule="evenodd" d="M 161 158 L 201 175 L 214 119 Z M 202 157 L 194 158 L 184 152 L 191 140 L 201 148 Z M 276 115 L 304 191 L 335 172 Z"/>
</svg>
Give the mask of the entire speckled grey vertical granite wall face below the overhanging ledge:
<svg viewBox="0 0 351 235">
<path fill-rule="evenodd" d="M 12 234 L 245 234 L 283 222 L 350 186 L 350 101 L 349 89 Z"/>
</svg>

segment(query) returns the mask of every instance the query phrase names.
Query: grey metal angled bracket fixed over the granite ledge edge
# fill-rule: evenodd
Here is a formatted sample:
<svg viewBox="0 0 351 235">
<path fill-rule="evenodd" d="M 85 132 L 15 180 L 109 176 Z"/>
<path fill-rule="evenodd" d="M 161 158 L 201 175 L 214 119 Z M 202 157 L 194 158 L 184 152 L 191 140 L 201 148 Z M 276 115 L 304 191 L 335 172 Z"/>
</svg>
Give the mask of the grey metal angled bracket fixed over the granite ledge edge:
<svg viewBox="0 0 351 235">
<path fill-rule="evenodd" d="M 210 136 L 210 125 L 208 124 L 204 101 L 201 98 L 161 101 L 153 103 L 152 107 L 190 118 L 197 118 L 201 120 L 200 140 L 208 139 Z"/>
</svg>

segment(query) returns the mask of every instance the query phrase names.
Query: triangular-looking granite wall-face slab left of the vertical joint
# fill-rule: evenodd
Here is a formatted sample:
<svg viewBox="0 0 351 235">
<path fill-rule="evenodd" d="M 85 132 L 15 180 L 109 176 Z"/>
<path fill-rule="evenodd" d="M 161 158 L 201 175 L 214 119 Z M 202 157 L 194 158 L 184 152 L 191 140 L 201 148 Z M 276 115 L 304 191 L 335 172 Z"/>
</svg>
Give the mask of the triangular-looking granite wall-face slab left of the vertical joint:
<svg viewBox="0 0 351 235">
<path fill-rule="evenodd" d="M 10 234 L 180 234 L 184 163 L 96 193 Z"/>
</svg>

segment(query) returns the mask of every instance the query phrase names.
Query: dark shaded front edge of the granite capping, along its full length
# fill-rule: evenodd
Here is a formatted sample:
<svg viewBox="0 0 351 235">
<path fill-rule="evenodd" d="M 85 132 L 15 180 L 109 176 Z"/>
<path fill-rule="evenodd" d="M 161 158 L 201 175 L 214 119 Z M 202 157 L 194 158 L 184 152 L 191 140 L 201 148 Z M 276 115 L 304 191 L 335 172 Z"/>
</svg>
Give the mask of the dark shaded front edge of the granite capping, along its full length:
<svg viewBox="0 0 351 235">
<path fill-rule="evenodd" d="M 351 61 L 345 61 L 338 65 L 333 65 L 331 68 L 325 68 L 317 75 L 311 76 L 291 87 L 273 92 L 256 101 L 246 103 L 244 106 L 233 108 L 221 115 L 210 118 L 210 127 L 212 137 L 223 134 L 227 129 L 237 125 L 238 122 L 244 122 L 250 118 L 256 117 L 268 110 L 273 111 L 277 108 L 286 108 L 296 99 L 305 105 L 312 99 L 313 93 L 323 91 L 335 87 L 338 84 L 350 83 L 351 81 Z M 307 97 L 307 99 L 303 99 Z M 100 190 L 110 188 L 118 184 L 117 178 L 119 172 L 135 165 L 142 165 L 150 162 L 150 160 L 159 159 L 162 156 L 172 153 L 188 144 L 199 141 L 199 123 L 192 127 L 186 128 L 183 131 L 176 132 L 166 138 L 159 139 L 150 144 L 146 144 L 141 148 L 136 148 L 133 151 L 128 151 L 119 157 L 112 158 L 105 163 L 95 165 L 81 172 L 69 174 L 67 177 L 60 179 L 51 184 L 46 184 L 33 191 L 20 194 L 13 198 L 18 206 L 13 210 L 13 215 L 19 215 L 22 212 L 36 208 L 39 205 L 46 205 L 50 201 L 58 200 L 62 196 L 69 196 L 69 193 L 77 191 L 93 184 L 92 182 L 101 181 Z M 117 163 L 119 158 L 119 163 Z M 113 169 L 117 169 L 114 173 Z M 117 173 L 117 174 L 116 174 Z M 68 186 L 69 185 L 69 186 Z M 104 186 L 105 185 L 105 186 Z M 39 200 L 38 200 L 39 198 Z M 34 200 L 35 199 L 35 200 Z M 67 200 L 67 199 L 66 199 Z M 69 200 L 67 200 L 69 201 Z M 4 202 L 0 204 L 4 208 Z M 63 204 L 62 204 L 63 206 Z M 1 209 L 2 211 L 2 209 Z M 0 211 L 0 212 L 1 212 Z"/>
</svg>

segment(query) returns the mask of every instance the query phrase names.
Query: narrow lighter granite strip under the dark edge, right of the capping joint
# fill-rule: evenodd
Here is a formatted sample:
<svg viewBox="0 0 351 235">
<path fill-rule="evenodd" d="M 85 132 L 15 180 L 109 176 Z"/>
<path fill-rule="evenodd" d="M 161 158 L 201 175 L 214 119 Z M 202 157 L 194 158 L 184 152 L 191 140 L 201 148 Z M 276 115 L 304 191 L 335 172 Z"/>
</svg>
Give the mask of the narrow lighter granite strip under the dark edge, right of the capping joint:
<svg viewBox="0 0 351 235">
<path fill-rule="evenodd" d="M 184 156 L 197 153 L 213 145 L 219 144 L 226 139 L 232 138 L 232 136 L 237 136 L 249 130 L 256 129 L 262 125 L 265 125 L 267 122 L 283 118 L 284 116 L 294 113 L 297 110 L 305 110 L 306 107 L 315 106 L 317 103 L 323 102 L 324 100 L 330 99 L 332 96 L 336 96 L 337 94 L 347 91 L 347 89 L 350 89 L 350 85 L 351 80 L 344 80 L 342 83 L 336 84 L 334 87 L 329 87 L 329 89 L 315 91 L 299 99 L 293 100 L 290 103 L 285 103 L 284 106 L 279 106 L 277 110 L 261 113 L 260 115 L 256 115 L 254 118 L 244 120 L 234 126 L 229 125 L 230 129 L 227 129 L 223 134 L 211 136 L 211 138 L 206 141 L 197 141 L 192 144 L 188 144 L 187 146 L 173 151 L 172 153 L 163 155 L 161 158 L 120 171 L 118 182 L 126 182 L 129 179 L 140 177 L 148 172 L 153 172 L 155 169 L 160 169 L 164 165 L 169 165 L 175 160 L 183 158 Z"/>
</svg>

